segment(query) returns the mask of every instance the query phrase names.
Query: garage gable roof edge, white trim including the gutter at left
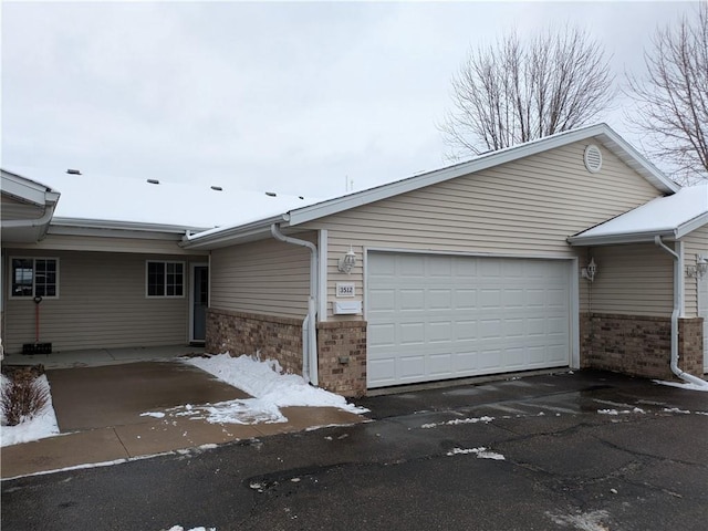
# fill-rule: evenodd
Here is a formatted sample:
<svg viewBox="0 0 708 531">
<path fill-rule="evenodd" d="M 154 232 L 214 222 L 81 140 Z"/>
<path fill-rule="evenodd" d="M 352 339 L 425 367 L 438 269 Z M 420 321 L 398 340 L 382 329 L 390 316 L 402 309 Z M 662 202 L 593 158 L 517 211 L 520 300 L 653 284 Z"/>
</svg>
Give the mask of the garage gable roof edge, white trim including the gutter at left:
<svg viewBox="0 0 708 531">
<path fill-rule="evenodd" d="M 230 226 L 211 229 L 187 237 L 183 241 L 186 248 L 215 248 L 266 237 L 273 222 L 294 227 L 308 221 L 339 214 L 351 208 L 368 205 L 408 191 L 436 185 L 465 175 L 481 171 L 487 168 L 519 160 L 550 149 L 566 146 L 575 142 L 592 138 L 615 154 L 627 166 L 644 177 L 649 184 L 664 194 L 675 194 L 680 187 L 666 177 L 656 166 L 642 156 L 632 145 L 615 133 L 606 124 L 597 124 L 573 131 L 566 131 L 537 140 L 499 149 L 475 157 L 471 160 L 428 171 L 405 179 L 396 180 L 353 194 L 335 197 L 326 201 L 303 206 L 280 216 L 263 217 L 249 223 L 231 223 Z"/>
</svg>

